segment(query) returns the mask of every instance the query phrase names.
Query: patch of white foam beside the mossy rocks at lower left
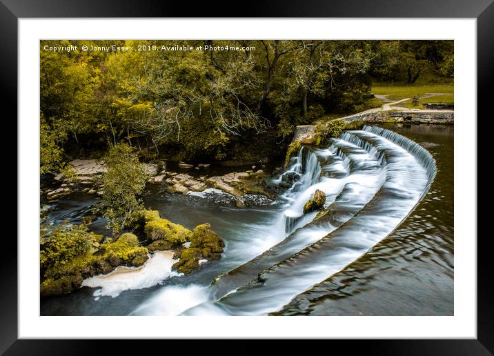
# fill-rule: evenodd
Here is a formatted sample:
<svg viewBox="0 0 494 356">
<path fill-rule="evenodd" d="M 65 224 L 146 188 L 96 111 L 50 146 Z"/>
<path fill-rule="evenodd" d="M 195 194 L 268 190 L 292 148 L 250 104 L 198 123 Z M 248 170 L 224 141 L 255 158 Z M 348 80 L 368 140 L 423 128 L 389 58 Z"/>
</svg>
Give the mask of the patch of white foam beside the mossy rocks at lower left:
<svg viewBox="0 0 494 356">
<path fill-rule="evenodd" d="M 82 286 L 99 288 L 93 295 L 117 297 L 124 290 L 149 288 L 161 284 L 164 279 L 177 276 L 172 264 L 177 262 L 170 251 L 157 251 L 139 267 L 119 266 L 108 275 L 97 275 L 84 279 Z"/>
</svg>

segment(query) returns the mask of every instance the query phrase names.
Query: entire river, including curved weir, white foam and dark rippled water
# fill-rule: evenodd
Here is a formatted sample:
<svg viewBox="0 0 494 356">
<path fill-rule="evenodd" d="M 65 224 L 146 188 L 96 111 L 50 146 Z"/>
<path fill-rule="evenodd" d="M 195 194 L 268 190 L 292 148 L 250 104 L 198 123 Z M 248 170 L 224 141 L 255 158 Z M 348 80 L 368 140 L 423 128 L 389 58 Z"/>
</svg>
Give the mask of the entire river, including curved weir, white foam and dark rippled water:
<svg viewBox="0 0 494 356">
<path fill-rule="evenodd" d="M 156 254 L 42 298 L 41 315 L 453 315 L 453 126 L 386 128 L 433 159 L 368 128 L 302 148 L 284 173 L 299 179 L 275 204 L 235 208 L 215 191 L 151 187 L 146 206 L 188 228 L 210 223 L 223 257 L 183 276 Z M 315 189 L 332 210 L 312 221 L 302 207 Z M 63 198 L 48 219 L 79 222 L 96 201 Z M 103 232 L 103 221 L 91 228 Z"/>
</svg>

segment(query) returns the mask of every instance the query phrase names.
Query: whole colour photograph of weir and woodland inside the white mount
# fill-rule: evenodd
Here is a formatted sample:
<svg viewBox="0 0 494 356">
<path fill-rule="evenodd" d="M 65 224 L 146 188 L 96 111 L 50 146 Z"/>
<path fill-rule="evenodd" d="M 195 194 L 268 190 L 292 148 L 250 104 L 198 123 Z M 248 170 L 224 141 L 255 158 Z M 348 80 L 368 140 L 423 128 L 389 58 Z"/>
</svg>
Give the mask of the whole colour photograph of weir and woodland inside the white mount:
<svg viewBox="0 0 494 356">
<path fill-rule="evenodd" d="M 38 41 L 41 317 L 455 316 L 455 40 Z"/>
</svg>

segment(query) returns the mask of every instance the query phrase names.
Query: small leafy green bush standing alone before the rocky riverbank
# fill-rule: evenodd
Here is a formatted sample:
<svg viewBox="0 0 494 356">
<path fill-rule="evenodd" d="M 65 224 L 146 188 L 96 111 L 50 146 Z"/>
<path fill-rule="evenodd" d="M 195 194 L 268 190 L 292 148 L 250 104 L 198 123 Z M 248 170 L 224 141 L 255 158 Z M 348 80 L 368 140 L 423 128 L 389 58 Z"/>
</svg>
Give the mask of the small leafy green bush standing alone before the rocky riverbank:
<svg viewBox="0 0 494 356">
<path fill-rule="evenodd" d="M 144 164 L 127 144 L 116 144 L 103 157 L 107 172 L 103 175 L 103 197 L 96 207 L 115 235 L 130 219 L 132 212 L 144 208 L 139 195 L 146 186 L 148 174 Z"/>
</svg>

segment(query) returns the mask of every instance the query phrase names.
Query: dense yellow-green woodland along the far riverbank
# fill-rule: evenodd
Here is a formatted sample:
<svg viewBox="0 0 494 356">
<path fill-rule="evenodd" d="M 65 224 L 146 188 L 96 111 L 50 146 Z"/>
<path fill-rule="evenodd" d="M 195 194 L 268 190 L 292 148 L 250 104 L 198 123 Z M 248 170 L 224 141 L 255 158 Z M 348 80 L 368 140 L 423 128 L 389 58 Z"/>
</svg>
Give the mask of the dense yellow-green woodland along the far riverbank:
<svg viewBox="0 0 494 356">
<path fill-rule="evenodd" d="M 134 50 L 43 50 L 71 44 Z M 41 41 L 40 57 L 41 174 L 118 143 L 141 161 L 271 159 L 295 126 L 366 108 L 373 81 L 453 77 L 453 41 Z"/>
</svg>

